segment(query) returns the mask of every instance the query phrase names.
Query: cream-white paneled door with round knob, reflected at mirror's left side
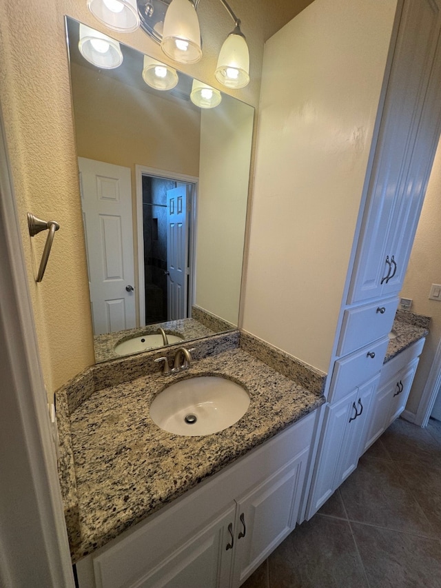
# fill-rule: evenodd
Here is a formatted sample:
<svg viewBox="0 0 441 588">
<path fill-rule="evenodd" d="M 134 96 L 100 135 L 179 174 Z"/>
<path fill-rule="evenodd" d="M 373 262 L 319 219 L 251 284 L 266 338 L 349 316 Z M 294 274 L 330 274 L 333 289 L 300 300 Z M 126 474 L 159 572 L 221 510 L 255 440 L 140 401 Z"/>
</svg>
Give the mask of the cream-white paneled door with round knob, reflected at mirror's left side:
<svg viewBox="0 0 441 588">
<path fill-rule="evenodd" d="M 94 334 L 131 329 L 136 310 L 130 168 L 78 159 Z"/>
</svg>

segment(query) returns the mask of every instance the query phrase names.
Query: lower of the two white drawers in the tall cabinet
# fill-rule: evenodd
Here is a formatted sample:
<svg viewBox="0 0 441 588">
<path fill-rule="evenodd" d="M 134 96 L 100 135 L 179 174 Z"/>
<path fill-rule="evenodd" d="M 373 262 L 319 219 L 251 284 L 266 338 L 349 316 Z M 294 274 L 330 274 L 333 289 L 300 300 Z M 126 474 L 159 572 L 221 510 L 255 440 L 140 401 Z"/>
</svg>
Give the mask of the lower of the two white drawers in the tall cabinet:
<svg viewBox="0 0 441 588">
<path fill-rule="evenodd" d="M 344 398 L 356 387 L 373 378 L 383 365 L 389 337 L 366 345 L 358 352 L 336 361 L 332 374 L 329 401 L 336 402 Z"/>
</svg>

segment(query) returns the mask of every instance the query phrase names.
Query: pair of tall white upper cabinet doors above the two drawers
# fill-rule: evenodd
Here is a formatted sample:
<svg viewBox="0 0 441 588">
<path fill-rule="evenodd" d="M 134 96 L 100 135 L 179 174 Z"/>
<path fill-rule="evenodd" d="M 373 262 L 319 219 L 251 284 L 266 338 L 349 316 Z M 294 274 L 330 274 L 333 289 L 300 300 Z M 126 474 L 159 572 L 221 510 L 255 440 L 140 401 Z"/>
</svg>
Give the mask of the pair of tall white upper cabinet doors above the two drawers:
<svg viewBox="0 0 441 588">
<path fill-rule="evenodd" d="M 439 32 L 434 2 L 404 2 L 349 303 L 398 292 L 404 278 L 440 132 L 438 66 L 426 95 Z"/>
</svg>

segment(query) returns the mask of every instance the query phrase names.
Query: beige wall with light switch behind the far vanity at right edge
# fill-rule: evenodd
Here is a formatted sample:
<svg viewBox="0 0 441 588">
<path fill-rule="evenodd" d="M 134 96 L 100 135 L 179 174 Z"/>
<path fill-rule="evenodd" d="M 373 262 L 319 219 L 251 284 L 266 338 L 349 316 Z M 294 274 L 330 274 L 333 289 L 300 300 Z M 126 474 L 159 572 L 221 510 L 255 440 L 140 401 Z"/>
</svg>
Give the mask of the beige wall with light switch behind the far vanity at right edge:
<svg viewBox="0 0 441 588">
<path fill-rule="evenodd" d="M 422 207 L 420 223 L 416 232 L 415 243 L 404 278 L 401 296 L 412 298 L 412 312 L 431 316 L 430 334 L 427 337 L 420 365 L 413 382 L 407 410 L 416 413 L 418 403 L 433 358 L 441 338 L 441 303 L 429 300 L 429 291 L 433 283 L 441 283 L 441 143 L 435 155 L 433 168 L 427 187 L 426 198 Z"/>
</svg>

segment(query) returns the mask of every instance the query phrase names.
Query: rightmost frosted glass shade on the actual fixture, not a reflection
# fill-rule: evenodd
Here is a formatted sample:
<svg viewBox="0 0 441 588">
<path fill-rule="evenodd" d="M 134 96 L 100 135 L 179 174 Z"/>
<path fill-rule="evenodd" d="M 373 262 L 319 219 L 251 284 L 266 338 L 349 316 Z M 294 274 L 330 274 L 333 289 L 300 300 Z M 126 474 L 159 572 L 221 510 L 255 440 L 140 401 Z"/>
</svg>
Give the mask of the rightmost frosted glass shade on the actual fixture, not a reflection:
<svg viewBox="0 0 441 588">
<path fill-rule="evenodd" d="M 227 88 L 244 88 L 249 82 L 249 51 L 245 37 L 230 33 L 225 39 L 214 72 Z"/>
</svg>

